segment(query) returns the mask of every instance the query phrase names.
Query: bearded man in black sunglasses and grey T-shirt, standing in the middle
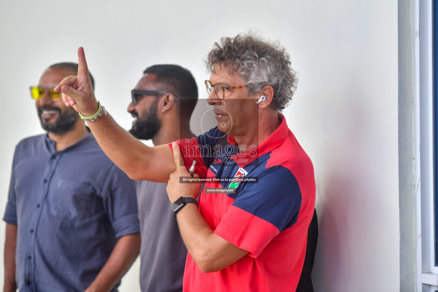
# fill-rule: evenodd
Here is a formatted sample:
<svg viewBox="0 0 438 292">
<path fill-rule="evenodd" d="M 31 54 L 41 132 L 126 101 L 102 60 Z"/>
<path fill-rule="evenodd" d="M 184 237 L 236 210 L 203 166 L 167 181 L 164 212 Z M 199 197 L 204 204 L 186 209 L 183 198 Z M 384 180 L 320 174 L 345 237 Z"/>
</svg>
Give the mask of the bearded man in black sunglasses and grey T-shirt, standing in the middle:
<svg viewBox="0 0 438 292">
<path fill-rule="evenodd" d="M 189 121 L 198 87 L 189 70 L 154 65 L 131 91 L 128 112 L 135 118 L 129 132 L 155 146 L 191 138 Z M 179 127 L 178 127 L 179 125 Z M 140 218 L 140 287 L 142 292 L 183 290 L 187 249 L 169 208 L 167 183 L 136 181 Z"/>
</svg>

